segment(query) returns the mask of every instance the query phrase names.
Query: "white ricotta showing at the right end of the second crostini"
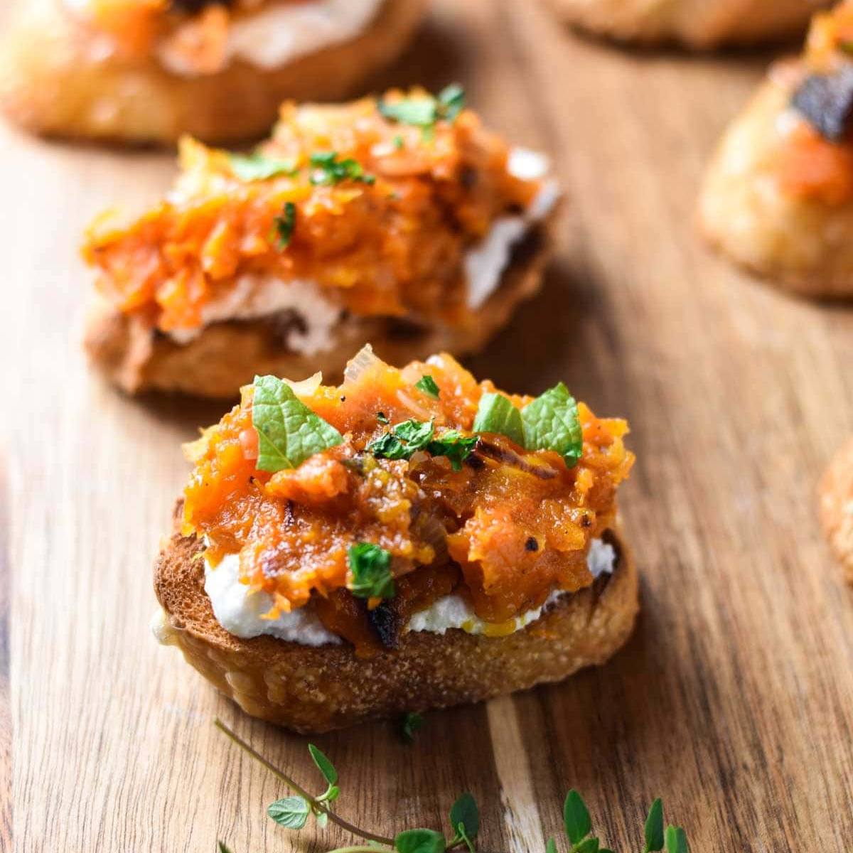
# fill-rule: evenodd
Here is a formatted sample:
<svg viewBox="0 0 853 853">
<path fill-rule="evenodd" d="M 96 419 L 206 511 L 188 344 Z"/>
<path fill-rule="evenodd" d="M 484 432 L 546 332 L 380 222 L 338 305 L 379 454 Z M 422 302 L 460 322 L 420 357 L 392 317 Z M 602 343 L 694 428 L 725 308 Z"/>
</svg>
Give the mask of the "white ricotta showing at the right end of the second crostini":
<svg viewBox="0 0 853 853">
<path fill-rule="evenodd" d="M 542 180 L 548 175 L 549 169 L 550 160 L 545 154 L 529 148 L 513 148 L 509 152 L 507 170 L 521 180 Z M 469 308 L 477 310 L 482 307 L 496 291 L 509 265 L 514 246 L 524 239 L 532 224 L 548 216 L 559 198 L 559 184 L 553 178 L 546 181 L 523 214 L 496 219 L 479 245 L 467 251 L 465 274 Z"/>
</svg>

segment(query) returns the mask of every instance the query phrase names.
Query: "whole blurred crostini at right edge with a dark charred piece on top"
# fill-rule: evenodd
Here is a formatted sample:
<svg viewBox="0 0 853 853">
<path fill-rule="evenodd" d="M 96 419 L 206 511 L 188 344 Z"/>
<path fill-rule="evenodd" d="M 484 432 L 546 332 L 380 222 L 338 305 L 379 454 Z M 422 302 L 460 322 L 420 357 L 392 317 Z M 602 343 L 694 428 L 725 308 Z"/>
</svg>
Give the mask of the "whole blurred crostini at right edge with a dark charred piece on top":
<svg viewBox="0 0 853 853">
<path fill-rule="evenodd" d="M 815 15 L 723 136 L 699 200 L 708 239 L 809 296 L 853 295 L 853 3 Z"/>
</svg>

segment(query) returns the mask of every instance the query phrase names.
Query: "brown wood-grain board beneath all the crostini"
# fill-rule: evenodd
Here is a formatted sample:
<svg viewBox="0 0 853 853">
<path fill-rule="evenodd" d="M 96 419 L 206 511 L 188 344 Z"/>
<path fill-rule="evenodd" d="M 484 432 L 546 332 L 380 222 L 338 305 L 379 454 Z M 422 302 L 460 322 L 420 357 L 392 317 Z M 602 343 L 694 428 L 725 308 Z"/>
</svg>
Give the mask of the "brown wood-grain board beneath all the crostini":
<svg viewBox="0 0 853 853">
<path fill-rule="evenodd" d="M 434 713 L 415 746 L 391 724 L 316 739 L 343 815 L 440 827 L 470 789 L 483 850 L 542 851 L 577 786 L 617 850 L 641 847 L 657 795 L 700 853 L 853 849 L 853 594 L 815 520 L 815 480 L 853 432 L 853 310 L 752 281 L 693 229 L 703 165 L 770 56 L 624 52 L 537 3 L 444 0 L 377 81 L 460 79 L 491 124 L 554 154 L 559 255 L 473 368 L 514 391 L 564 379 L 630 418 L 643 612 L 604 668 Z M 0 146 L 0 848 L 349 841 L 267 819 L 281 786 L 211 718 L 311 780 L 305 739 L 252 722 L 148 630 L 178 445 L 223 407 L 129 400 L 88 373 L 76 247 L 104 206 L 160 194 L 171 156 L 8 128 Z"/>
</svg>

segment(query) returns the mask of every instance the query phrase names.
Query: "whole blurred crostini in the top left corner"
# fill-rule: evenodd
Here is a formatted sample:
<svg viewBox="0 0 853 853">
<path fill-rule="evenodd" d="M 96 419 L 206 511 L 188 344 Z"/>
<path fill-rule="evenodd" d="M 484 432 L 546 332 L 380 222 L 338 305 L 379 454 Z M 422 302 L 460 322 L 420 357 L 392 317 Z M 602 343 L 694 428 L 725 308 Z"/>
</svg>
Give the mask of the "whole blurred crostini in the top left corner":
<svg viewBox="0 0 853 853">
<path fill-rule="evenodd" d="M 350 95 L 426 0 L 18 0 L 0 105 L 31 131 L 111 142 L 263 136 L 286 98 Z"/>
</svg>

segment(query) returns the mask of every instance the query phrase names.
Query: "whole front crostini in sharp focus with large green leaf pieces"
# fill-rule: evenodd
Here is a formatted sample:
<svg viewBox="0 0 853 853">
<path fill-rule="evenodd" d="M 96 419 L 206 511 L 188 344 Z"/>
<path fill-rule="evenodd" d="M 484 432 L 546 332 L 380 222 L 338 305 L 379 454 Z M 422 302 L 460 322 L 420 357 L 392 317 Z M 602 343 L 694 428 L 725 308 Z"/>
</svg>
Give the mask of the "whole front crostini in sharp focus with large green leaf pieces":
<svg viewBox="0 0 853 853">
<path fill-rule="evenodd" d="M 322 732 L 601 664 L 637 576 L 625 421 L 365 347 L 339 387 L 258 377 L 186 448 L 154 630 L 249 714 Z"/>
</svg>

